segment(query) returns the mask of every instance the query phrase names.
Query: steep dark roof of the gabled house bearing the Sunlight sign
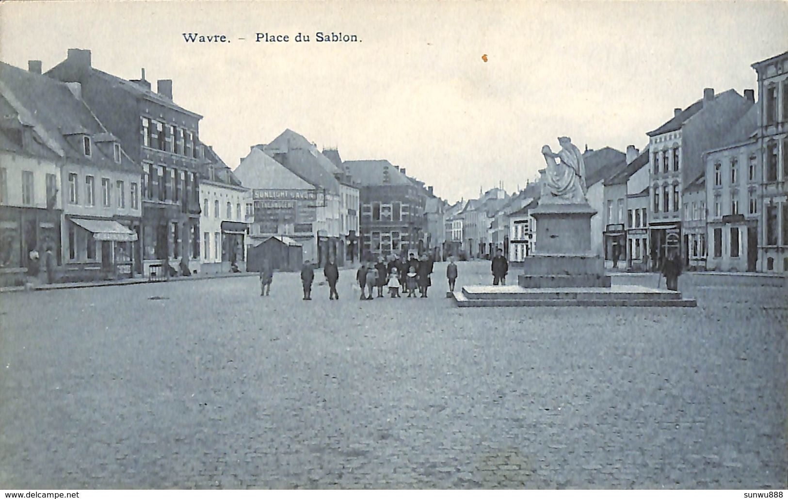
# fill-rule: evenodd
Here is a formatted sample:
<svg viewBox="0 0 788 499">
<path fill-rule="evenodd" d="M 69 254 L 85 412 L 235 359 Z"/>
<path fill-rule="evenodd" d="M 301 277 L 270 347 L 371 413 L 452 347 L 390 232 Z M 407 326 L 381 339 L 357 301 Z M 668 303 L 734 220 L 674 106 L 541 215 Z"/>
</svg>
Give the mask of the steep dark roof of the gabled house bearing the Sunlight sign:
<svg viewBox="0 0 788 499">
<path fill-rule="evenodd" d="M 262 150 L 304 181 L 339 194 L 340 183 L 333 173 L 341 173 L 341 170 L 304 136 L 288 128 L 273 142 L 263 145 Z"/>
</svg>

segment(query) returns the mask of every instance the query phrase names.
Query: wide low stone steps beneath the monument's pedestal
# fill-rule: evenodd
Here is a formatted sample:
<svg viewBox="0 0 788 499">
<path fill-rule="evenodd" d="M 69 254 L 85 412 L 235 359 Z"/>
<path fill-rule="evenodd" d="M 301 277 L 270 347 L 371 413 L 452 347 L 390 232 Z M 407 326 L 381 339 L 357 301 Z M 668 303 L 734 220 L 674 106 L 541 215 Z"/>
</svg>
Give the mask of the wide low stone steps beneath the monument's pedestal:
<svg viewBox="0 0 788 499">
<path fill-rule="evenodd" d="M 696 307 L 681 292 L 637 285 L 611 288 L 463 286 L 454 293 L 458 307 Z"/>
</svg>

